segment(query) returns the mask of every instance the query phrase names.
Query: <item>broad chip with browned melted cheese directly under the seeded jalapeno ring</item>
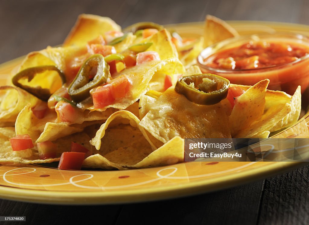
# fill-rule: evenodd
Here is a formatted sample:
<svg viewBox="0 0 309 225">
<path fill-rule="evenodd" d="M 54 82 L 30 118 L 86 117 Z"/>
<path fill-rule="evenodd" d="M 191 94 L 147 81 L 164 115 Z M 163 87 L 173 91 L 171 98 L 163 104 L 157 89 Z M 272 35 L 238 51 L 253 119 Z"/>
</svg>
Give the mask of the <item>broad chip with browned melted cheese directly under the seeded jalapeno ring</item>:
<svg viewBox="0 0 309 225">
<path fill-rule="evenodd" d="M 227 124 L 228 119 L 220 103 L 198 105 L 171 87 L 155 101 L 140 126 L 156 139 L 167 143 L 175 136 L 231 138 Z"/>
</svg>

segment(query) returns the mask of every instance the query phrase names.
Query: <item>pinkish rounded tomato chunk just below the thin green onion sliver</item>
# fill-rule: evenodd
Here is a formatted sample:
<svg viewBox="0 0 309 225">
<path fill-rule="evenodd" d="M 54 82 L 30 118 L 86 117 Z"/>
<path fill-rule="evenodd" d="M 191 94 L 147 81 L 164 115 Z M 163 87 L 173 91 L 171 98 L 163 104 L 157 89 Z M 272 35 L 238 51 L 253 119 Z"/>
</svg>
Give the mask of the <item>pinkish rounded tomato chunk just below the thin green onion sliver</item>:
<svg viewBox="0 0 309 225">
<path fill-rule="evenodd" d="M 55 106 L 57 117 L 62 122 L 74 122 L 78 118 L 78 109 L 68 102 L 59 101 Z"/>
</svg>

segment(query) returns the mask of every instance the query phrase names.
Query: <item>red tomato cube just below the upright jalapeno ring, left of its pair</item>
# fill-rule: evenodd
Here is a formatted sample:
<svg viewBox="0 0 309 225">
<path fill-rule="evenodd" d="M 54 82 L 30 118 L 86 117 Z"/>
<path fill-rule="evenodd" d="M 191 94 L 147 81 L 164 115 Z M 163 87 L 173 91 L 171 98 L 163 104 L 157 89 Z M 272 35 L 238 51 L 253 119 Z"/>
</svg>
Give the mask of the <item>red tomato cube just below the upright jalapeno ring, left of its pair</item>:
<svg viewBox="0 0 309 225">
<path fill-rule="evenodd" d="M 92 93 L 93 105 L 96 109 L 108 106 L 115 101 L 115 98 L 112 96 L 111 87 L 111 84 L 99 86 Z"/>
</svg>

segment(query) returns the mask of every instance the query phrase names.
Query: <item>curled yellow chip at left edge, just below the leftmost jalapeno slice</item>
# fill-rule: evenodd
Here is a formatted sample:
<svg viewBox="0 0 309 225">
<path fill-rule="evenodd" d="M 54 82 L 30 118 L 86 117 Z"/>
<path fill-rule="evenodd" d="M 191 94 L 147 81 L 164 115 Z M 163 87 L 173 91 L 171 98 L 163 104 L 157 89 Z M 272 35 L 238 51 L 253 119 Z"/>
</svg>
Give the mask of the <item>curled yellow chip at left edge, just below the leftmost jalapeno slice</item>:
<svg viewBox="0 0 309 225">
<path fill-rule="evenodd" d="M 14 126 L 19 112 L 29 103 L 35 106 L 40 99 L 27 91 L 12 86 L 0 87 L 0 126 Z"/>
</svg>

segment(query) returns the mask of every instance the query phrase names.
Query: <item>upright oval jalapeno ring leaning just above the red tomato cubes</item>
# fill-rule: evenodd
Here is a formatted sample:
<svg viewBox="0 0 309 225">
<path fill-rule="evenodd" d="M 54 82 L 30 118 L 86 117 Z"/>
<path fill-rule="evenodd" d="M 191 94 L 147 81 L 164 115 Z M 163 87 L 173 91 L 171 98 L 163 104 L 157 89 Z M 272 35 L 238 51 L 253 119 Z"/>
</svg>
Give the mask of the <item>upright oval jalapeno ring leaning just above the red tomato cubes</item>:
<svg viewBox="0 0 309 225">
<path fill-rule="evenodd" d="M 96 69 L 95 75 L 93 69 Z M 101 54 L 90 56 L 79 69 L 74 81 L 69 86 L 68 93 L 74 102 L 81 102 L 90 96 L 89 91 L 100 84 L 106 83 L 110 77 L 109 69 Z"/>
</svg>

